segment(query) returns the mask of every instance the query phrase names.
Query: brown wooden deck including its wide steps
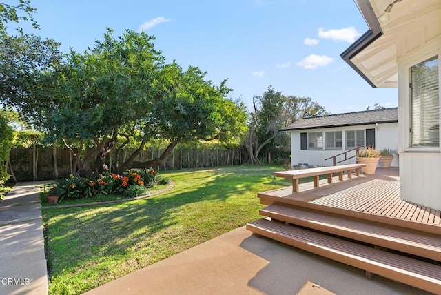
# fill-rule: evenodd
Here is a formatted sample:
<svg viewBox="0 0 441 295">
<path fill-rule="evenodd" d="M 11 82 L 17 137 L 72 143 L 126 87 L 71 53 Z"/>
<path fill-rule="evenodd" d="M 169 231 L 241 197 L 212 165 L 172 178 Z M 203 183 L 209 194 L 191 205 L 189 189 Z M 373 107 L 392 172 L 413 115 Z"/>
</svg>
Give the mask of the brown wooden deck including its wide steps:
<svg viewBox="0 0 441 295">
<path fill-rule="evenodd" d="M 378 274 L 441 294 L 441 212 L 400 199 L 398 168 L 258 197 L 268 207 L 248 230 L 364 269 L 367 278 Z"/>
</svg>

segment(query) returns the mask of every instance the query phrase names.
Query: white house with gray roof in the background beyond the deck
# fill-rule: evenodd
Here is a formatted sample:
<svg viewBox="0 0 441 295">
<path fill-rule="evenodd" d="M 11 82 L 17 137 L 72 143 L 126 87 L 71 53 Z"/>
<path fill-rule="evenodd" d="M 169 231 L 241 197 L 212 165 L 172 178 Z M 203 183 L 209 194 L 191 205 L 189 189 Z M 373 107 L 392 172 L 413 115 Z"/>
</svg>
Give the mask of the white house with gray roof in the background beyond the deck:
<svg viewBox="0 0 441 295">
<path fill-rule="evenodd" d="M 341 154 L 337 161 L 345 160 L 355 156 L 357 147 L 398 150 L 398 109 L 303 118 L 283 131 L 291 134 L 291 165 L 331 166 L 329 158 Z M 356 159 L 341 163 L 356 163 Z M 398 166 L 397 154 L 392 165 Z"/>
</svg>

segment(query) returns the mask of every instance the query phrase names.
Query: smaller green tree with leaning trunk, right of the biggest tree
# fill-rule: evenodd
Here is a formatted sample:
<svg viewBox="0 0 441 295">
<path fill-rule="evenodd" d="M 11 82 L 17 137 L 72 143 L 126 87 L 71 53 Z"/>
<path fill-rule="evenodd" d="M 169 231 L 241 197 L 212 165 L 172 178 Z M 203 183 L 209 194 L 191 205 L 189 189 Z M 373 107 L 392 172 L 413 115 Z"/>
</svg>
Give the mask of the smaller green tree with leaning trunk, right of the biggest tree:
<svg viewBox="0 0 441 295">
<path fill-rule="evenodd" d="M 152 108 L 141 120 L 141 145 L 125 161 L 123 168 L 162 165 L 178 143 L 228 141 L 245 134 L 245 105 L 227 99 L 230 89 L 225 86 L 226 81 L 215 87 L 212 81 L 205 81 L 205 75 L 192 66 L 183 72 L 176 63 L 165 65 Z M 163 154 L 143 163 L 134 161 L 145 143 L 156 136 L 169 141 Z"/>
</svg>

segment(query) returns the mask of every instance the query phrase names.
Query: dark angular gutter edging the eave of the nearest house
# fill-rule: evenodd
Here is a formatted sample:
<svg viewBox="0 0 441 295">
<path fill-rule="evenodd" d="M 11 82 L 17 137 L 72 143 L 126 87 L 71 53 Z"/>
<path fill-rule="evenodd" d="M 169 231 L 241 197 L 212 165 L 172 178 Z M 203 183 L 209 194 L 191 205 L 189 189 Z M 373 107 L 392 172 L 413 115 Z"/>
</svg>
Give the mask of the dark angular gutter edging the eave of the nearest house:
<svg viewBox="0 0 441 295">
<path fill-rule="evenodd" d="M 355 65 L 351 59 L 355 57 L 362 50 L 367 48 L 367 46 L 371 45 L 373 41 L 376 41 L 382 34 L 380 22 L 378 21 L 375 12 L 373 12 L 373 8 L 369 0 L 354 0 L 356 5 L 358 6 L 358 10 L 360 10 L 362 16 L 365 18 L 367 26 L 369 26 L 369 30 L 362 34 L 360 38 L 357 39 L 347 50 L 340 54 L 340 57 L 346 61 L 346 63 L 353 68 L 363 79 L 369 83 L 373 88 L 377 88 L 375 83 L 369 79 L 358 67 Z"/>
</svg>

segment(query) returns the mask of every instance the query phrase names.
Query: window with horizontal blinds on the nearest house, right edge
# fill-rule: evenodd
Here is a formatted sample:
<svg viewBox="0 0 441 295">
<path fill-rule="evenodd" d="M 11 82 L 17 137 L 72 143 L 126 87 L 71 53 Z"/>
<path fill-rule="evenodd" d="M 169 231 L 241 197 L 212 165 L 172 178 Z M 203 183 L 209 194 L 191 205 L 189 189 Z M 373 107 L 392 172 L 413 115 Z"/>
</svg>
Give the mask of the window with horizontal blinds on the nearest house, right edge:
<svg viewBox="0 0 441 295">
<path fill-rule="evenodd" d="M 440 146 L 438 56 L 411 67 L 411 146 Z"/>
</svg>

